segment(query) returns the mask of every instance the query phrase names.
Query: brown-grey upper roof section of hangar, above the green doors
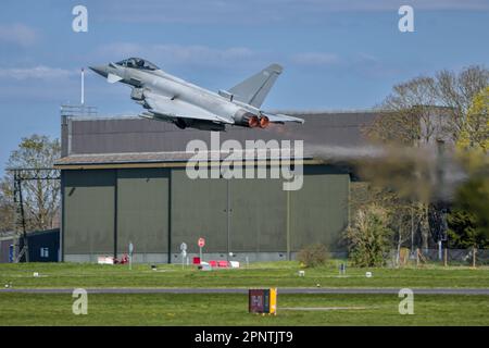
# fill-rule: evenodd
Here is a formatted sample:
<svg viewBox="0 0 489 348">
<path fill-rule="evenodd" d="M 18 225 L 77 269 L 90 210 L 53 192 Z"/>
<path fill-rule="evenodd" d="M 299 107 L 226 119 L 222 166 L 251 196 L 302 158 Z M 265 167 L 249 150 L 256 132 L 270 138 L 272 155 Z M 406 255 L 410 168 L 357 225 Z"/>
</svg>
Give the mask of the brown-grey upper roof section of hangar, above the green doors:
<svg viewBox="0 0 489 348">
<path fill-rule="evenodd" d="M 303 125 L 272 125 L 265 129 L 230 127 L 220 133 L 220 145 L 238 140 L 303 140 L 303 159 L 311 161 L 321 147 L 363 148 L 367 146 L 362 128 L 367 127 L 378 112 L 288 112 L 303 117 Z M 179 129 L 173 124 L 135 116 L 73 117 L 62 116 L 62 158 L 58 167 L 93 167 L 103 165 L 147 164 L 181 165 L 193 153 L 186 152 L 190 140 L 203 140 L 211 149 L 211 132 Z M 293 147 L 293 142 L 292 142 Z M 224 159 L 227 153 L 221 153 Z M 247 158 L 244 153 L 243 158 Z M 273 154 L 266 158 L 273 160 Z M 179 163 L 179 164 L 178 164 Z"/>
</svg>

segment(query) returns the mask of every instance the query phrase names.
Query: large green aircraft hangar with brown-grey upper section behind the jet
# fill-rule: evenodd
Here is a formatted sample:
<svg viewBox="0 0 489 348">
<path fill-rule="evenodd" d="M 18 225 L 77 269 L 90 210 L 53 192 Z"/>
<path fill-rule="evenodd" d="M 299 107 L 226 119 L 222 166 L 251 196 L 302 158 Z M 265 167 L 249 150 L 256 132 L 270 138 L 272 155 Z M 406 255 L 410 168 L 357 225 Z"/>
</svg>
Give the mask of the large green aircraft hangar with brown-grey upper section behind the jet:
<svg viewBox="0 0 489 348">
<path fill-rule="evenodd" d="M 121 257 L 133 243 L 135 262 L 181 262 L 181 243 L 190 257 L 198 256 L 200 237 L 206 259 L 288 260 L 315 243 L 344 252 L 340 234 L 349 222 L 351 170 L 316 150 L 364 145 L 361 129 L 375 113 L 296 115 L 305 123 L 230 127 L 218 136 L 221 144 L 235 139 L 243 146 L 256 139 L 303 140 L 303 154 L 294 159 L 303 164 L 299 190 L 284 190 L 284 179 L 269 176 L 189 178 L 186 147 L 200 139 L 211 149 L 211 132 L 135 116 L 62 115 L 62 158 L 55 166 L 62 177 L 63 261 Z M 266 157 L 268 171 L 272 162 Z"/>
</svg>

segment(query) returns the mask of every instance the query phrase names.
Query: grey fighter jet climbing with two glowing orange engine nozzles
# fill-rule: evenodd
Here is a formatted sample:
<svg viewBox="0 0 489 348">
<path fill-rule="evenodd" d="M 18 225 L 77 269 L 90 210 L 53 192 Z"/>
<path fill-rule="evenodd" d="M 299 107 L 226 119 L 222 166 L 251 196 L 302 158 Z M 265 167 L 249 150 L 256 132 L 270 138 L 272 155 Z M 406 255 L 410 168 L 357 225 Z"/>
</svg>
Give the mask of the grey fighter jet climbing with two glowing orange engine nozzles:
<svg viewBox="0 0 489 348">
<path fill-rule="evenodd" d="M 139 116 L 171 122 L 181 129 L 225 130 L 226 125 L 265 128 L 269 123 L 304 123 L 302 119 L 260 109 L 281 73 L 278 64 L 217 94 L 172 76 L 140 58 L 90 69 L 111 84 L 131 86 L 130 98 L 147 109 Z"/>
</svg>

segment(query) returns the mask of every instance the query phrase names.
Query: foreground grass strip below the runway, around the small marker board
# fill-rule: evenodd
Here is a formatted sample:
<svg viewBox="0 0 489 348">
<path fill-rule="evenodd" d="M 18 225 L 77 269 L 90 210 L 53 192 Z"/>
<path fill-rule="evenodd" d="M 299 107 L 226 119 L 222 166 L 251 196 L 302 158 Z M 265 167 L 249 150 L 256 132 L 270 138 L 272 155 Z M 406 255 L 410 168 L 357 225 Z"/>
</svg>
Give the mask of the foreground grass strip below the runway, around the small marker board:
<svg viewBox="0 0 489 348">
<path fill-rule="evenodd" d="M 243 295 L 89 295 L 88 314 L 74 315 L 70 294 L 0 294 L 0 325 L 489 325 L 485 296 L 414 300 L 414 315 L 400 315 L 396 295 L 279 295 L 277 316 L 261 316 Z"/>
</svg>

